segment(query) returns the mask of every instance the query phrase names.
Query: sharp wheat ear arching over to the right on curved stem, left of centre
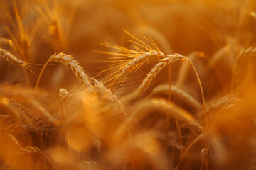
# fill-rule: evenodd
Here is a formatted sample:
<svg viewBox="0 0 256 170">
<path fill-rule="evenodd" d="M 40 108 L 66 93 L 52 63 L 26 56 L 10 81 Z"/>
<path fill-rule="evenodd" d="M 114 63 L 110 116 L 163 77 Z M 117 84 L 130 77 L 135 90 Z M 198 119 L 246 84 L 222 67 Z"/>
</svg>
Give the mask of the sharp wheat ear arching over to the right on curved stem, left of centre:
<svg viewBox="0 0 256 170">
<path fill-rule="evenodd" d="M 38 76 L 38 80 L 36 82 L 36 89 L 38 89 L 39 81 L 41 79 L 41 76 L 43 74 L 43 70 L 46 68 L 46 65 L 49 62 L 60 62 L 65 66 L 70 67 L 73 74 L 75 74 L 75 77 L 78 79 L 79 83 L 86 86 L 91 87 L 92 84 L 90 83 L 90 77 L 85 74 L 84 70 L 80 66 L 77 60 L 75 60 L 71 55 L 65 55 L 65 53 L 60 52 L 58 54 L 51 55 L 49 60 L 44 64 L 43 69 L 41 69 L 41 72 Z"/>
</svg>

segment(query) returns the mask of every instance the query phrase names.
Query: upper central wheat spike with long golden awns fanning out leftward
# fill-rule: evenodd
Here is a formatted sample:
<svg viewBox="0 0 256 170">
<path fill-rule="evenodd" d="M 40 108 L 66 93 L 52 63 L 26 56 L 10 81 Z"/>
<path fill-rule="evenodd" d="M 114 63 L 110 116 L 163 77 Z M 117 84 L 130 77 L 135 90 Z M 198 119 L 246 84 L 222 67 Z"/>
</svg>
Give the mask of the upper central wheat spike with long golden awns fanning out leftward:
<svg viewBox="0 0 256 170">
<path fill-rule="evenodd" d="M 117 60 L 116 62 L 118 62 L 118 64 L 114 64 L 112 67 L 105 69 L 102 72 L 110 72 L 110 74 L 103 79 L 104 82 L 112 81 L 112 85 L 119 84 L 119 87 L 127 84 L 127 81 L 129 81 L 132 73 L 136 72 L 137 69 L 142 66 L 142 64 L 153 62 L 155 60 L 161 60 L 166 57 L 150 36 L 148 38 L 144 36 L 147 42 L 149 42 L 149 45 L 147 45 L 145 42 L 139 40 L 139 38 L 136 38 L 126 30 L 124 30 L 124 32 L 134 39 L 128 40 L 129 42 L 132 42 L 134 50 L 103 43 L 102 45 L 110 47 L 114 50 L 118 50 L 118 52 L 100 51 L 104 54 L 117 56 L 112 57 L 112 59 Z"/>
</svg>

